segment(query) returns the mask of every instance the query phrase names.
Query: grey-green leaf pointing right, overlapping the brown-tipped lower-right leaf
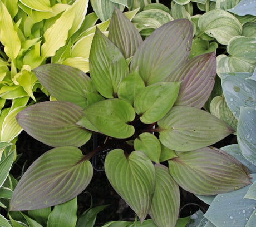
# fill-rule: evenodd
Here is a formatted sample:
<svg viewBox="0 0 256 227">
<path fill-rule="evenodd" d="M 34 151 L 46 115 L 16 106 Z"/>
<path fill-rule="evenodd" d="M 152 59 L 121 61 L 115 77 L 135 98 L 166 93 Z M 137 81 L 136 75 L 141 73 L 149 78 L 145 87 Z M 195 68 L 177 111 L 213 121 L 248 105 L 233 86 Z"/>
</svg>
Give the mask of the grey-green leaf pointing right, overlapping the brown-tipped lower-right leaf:
<svg viewBox="0 0 256 227">
<path fill-rule="evenodd" d="M 189 106 L 171 108 L 158 125 L 161 143 L 176 151 L 209 146 L 234 132 L 224 121 Z"/>
</svg>

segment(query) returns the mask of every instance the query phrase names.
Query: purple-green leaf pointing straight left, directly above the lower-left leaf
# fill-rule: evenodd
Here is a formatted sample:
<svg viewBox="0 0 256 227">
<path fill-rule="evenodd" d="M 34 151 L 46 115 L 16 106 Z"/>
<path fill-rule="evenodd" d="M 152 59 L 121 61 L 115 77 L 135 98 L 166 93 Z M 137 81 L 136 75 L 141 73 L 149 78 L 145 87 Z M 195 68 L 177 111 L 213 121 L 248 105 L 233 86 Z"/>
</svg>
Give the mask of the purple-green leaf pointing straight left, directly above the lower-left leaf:
<svg viewBox="0 0 256 227">
<path fill-rule="evenodd" d="M 76 125 L 82 108 L 71 102 L 48 101 L 29 106 L 16 116 L 18 124 L 35 139 L 53 146 L 82 146 L 91 132 Z"/>
</svg>

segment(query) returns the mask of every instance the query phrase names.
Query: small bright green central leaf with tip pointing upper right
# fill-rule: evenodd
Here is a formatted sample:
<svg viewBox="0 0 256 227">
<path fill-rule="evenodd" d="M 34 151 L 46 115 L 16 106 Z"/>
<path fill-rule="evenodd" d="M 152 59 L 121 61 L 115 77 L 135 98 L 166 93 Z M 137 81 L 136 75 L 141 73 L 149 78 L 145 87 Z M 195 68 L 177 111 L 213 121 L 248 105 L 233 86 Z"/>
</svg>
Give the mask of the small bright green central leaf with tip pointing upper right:
<svg viewBox="0 0 256 227">
<path fill-rule="evenodd" d="M 150 124 L 161 119 L 173 106 L 180 82 L 159 82 L 145 87 L 134 101 L 135 112 L 140 120 Z"/>
</svg>

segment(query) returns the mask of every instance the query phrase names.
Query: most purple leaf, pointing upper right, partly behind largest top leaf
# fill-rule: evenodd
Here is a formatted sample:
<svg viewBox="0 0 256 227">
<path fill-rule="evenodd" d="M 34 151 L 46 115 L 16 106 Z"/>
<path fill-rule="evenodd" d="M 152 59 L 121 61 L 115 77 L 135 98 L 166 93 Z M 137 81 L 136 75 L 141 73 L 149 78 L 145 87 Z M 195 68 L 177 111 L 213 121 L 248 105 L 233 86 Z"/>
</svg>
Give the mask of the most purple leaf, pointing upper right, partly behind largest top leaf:
<svg viewBox="0 0 256 227">
<path fill-rule="evenodd" d="M 167 81 L 183 81 L 175 106 L 201 108 L 213 90 L 216 75 L 215 53 L 205 53 L 184 63 Z"/>
</svg>

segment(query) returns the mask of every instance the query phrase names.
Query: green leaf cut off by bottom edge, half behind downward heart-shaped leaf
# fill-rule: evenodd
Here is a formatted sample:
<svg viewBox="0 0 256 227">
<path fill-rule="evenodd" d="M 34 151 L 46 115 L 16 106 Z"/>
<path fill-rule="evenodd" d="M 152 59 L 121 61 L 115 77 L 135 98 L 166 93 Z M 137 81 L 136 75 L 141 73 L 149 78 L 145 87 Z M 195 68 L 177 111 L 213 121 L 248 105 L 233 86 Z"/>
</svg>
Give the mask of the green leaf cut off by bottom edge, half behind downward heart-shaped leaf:
<svg viewBox="0 0 256 227">
<path fill-rule="evenodd" d="M 155 165 L 156 187 L 149 211 L 159 227 L 175 226 L 179 215 L 180 191 L 166 166 Z"/>
</svg>

